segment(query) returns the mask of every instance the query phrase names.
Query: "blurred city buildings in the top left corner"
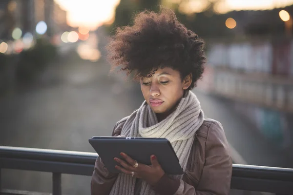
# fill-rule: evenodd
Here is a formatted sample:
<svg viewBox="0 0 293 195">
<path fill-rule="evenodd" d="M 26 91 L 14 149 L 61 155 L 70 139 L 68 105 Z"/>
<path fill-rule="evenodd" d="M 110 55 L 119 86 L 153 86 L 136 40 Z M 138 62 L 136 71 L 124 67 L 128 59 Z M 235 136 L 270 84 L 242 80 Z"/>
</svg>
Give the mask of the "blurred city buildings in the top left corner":
<svg viewBox="0 0 293 195">
<path fill-rule="evenodd" d="M 16 27 L 21 29 L 22 35 L 26 32 L 35 35 L 36 25 L 40 21 L 46 23 L 48 37 L 68 29 L 66 11 L 54 0 L 0 1 L 0 39 L 11 39 Z"/>
</svg>

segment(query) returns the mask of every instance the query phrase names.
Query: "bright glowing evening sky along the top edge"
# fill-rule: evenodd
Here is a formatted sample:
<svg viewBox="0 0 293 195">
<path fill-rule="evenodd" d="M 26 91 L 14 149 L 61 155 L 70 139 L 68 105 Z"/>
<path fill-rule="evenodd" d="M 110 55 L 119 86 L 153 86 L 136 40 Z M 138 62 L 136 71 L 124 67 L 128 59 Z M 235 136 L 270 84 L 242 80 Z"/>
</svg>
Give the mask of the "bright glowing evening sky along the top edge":
<svg viewBox="0 0 293 195">
<path fill-rule="evenodd" d="M 105 22 L 113 21 L 115 9 L 120 0 L 55 0 L 67 11 L 67 22 L 74 27 L 89 27 L 96 29 Z M 178 1 L 178 0 L 170 0 Z M 190 7 L 200 8 L 201 0 L 190 0 Z M 202 1 L 203 2 L 203 1 Z M 219 4 L 218 12 L 230 10 L 273 9 L 293 4 L 293 0 L 226 0 Z M 189 9 L 190 10 L 190 9 Z M 194 11 L 198 9 L 193 9 Z"/>
</svg>

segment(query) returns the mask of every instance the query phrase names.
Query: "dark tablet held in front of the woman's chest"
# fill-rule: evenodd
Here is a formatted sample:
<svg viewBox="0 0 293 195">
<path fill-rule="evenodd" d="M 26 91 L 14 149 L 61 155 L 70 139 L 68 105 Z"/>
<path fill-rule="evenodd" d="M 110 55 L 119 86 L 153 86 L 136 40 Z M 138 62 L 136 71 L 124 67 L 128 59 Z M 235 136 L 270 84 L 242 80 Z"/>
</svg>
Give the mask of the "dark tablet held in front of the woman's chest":
<svg viewBox="0 0 293 195">
<path fill-rule="evenodd" d="M 114 157 L 122 158 L 121 152 L 146 165 L 151 165 L 150 156 L 155 155 L 165 173 L 184 173 L 172 145 L 166 138 L 92 137 L 88 141 L 111 173 L 121 173 L 115 169 L 119 163 L 114 160 Z"/>
</svg>

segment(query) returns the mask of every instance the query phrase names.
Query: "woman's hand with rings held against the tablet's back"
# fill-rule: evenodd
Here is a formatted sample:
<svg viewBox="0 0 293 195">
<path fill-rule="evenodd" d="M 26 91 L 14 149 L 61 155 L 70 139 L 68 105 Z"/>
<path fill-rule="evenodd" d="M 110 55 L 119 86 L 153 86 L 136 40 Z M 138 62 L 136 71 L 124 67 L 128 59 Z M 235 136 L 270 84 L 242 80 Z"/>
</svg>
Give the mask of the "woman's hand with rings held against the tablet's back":
<svg viewBox="0 0 293 195">
<path fill-rule="evenodd" d="M 165 174 L 156 156 L 154 155 L 150 156 L 151 165 L 138 163 L 136 168 L 136 161 L 134 159 L 125 153 L 120 153 L 120 155 L 125 160 L 115 157 L 114 160 L 121 164 L 121 166 L 116 165 L 115 168 L 130 176 L 132 175 L 131 172 L 134 172 L 135 177 L 144 179 L 151 186 L 155 185 Z"/>
</svg>

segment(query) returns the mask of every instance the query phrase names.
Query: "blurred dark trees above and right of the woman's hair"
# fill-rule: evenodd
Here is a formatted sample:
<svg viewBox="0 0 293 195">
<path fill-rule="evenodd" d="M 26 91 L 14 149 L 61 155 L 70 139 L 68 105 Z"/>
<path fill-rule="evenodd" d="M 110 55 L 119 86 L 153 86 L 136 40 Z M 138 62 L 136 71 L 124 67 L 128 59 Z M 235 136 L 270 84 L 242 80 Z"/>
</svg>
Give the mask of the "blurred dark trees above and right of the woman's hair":
<svg viewBox="0 0 293 195">
<path fill-rule="evenodd" d="M 284 22 L 279 19 L 278 12 L 286 9 L 293 13 L 293 5 L 265 11 L 227 12 L 225 0 L 121 0 L 115 21 L 108 29 L 113 34 L 117 27 L 131 24 L 135 13 L 145 9 L 157 11 L 159 5 L 173 9 L 180 22 L 206 40 L 284 34 Z M 226 26 L 228 18 L 236 21 L 235 28 Z"/>
</svg>

